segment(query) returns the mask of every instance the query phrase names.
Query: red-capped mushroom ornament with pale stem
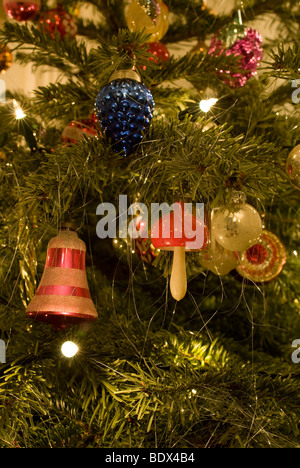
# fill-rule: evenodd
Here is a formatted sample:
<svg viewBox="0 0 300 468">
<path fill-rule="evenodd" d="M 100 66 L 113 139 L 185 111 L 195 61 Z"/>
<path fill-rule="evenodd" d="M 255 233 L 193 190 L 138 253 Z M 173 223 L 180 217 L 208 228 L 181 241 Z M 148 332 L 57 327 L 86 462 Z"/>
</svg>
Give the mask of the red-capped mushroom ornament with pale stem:
<svg viewBox="0 0 300 468">
<path fill-rule="evenodd" d="M 174 210 L 162 216 L 151 230 L 152 244 L 156 249 L 174 252 L 170 290 L 176 301 L 181 301 L 187 291 L 185 252 L 202 250 L 207 242 L 204 221 L 194 216 L 190 207 L 190 203 L 174 203 Z"/>
</svg>

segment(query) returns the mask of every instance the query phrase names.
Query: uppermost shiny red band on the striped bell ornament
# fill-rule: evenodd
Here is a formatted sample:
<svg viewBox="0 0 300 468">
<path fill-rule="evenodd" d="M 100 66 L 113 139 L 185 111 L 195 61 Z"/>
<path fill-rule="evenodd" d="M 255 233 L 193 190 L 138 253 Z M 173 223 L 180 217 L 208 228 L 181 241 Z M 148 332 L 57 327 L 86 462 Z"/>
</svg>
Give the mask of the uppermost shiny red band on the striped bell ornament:
<svg viewBox="0 0 300 468">
<path fill-rule="evenodd" d="M 74 268 L 85 271 L 85 252 L 68 248 L 48 249 L 45 268 Z"/>
</svg>

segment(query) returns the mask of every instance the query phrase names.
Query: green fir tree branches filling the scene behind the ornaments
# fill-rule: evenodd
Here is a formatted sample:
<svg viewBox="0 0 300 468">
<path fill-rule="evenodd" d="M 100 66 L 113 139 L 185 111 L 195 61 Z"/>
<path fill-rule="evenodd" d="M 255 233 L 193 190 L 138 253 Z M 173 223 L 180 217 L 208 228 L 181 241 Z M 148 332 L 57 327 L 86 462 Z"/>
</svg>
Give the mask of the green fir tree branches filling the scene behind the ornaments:
<svg viewBox="0 0 300 468">
<path fill-rule="evenodd" d="M 172 12 L 165 42 L 204 38 L 232 21 L 231 14 L 215 17 L 203 9 L 201 0 L 165 2 Z M 284 109 L 291 104 L 288 82 L 270 91 L 271 77 L 298 77 L 298 42 L 278 50 L 268 43 L 270 59 L 259 78 L 232 89 L 216 73 L 238 70 L 232 56 L 187 54 L 162 67 L 150 63 L 149 36 L 125 29 L 124 3 L 92 0 L 105 24 L 79 21 L 80 32 L 98 41 L 90 52 L 77 39 L 49 40 L 29 23 L 7 23 L 0 35 L 21 63 L 55 67 L 64 78 L 40 87 L 32 99 L 7 94 L 24 106 L 46 148 L 41 152 L 32 154 L 24 144 L 9 101 L 0 106 L 6 154 L 0 161 L 0 336 L 7 343 L 0 446 L 298 447 L 300 371 L 290 344 L 300 336 L 300 192 L 285 165 L 299 140 L 299 110 Z M 298 39 L 294 3 L 244 0 L 244 16 L 279 19 L 285 41 Z M 100 134 L 63 146 L 65 124 L 88 117 L 111 73 L 133 65 L 156 102 L 135 153 L 122 158 Z M 204 115 L 199 101 L 207 87 L 219 100 Z M 177 303 L 166 281 L 171 255 L 145 264 L 132 244 L 117 252 L 112 239 L 95 232 L 96 207 L 102 201 L 117 206 L 119 194 L 148 206 L 205 202 L 210 211 L 230 207 L 236 190 L 286 247 L 287 263 L 273 282 L 219 277 L 204 271 L 198 252 L 188 253 L 189 293 Z M 57 333 L 29 322 L 22 299 L 43 273 L 47 241 L 70 215 L 88 247 L 87 278 L 99 320 Z M 33 247 L 37 260 L 30 264 Z M 27 274 L 34 268 L 32 281 Z M 67 339 L 79 345 L 73 360 L 60 352 Z"/>
</svg>

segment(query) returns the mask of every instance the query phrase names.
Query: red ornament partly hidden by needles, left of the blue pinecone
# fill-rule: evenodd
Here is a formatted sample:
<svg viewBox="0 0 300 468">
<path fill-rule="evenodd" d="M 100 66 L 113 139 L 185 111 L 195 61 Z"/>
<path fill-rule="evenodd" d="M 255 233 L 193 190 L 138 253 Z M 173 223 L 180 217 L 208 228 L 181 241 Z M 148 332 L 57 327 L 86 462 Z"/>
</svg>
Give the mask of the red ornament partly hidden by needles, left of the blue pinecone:
<svg viewBox="0 0 300 468">
<path fill-rule="evenodd" d="M 82 119 L 70 122 L 62 133 L 64 144 L 77 144 L 80 140 L 87 138 L 95 138 L 101 136 L 98 120 L 95 114 L 92 114 L 89 119 Z"/>
</svg>

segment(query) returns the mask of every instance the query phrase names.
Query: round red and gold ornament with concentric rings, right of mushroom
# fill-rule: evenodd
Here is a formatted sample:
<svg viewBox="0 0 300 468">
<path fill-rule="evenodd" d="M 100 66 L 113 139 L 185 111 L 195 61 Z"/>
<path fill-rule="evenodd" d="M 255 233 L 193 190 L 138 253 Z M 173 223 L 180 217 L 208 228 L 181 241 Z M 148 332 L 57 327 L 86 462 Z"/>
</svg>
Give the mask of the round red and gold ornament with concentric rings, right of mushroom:
<svg viewBox="0 0 300 468">
<path fill-rule="evenodd" d="M 241 255 L 237 273 L 254 283 L 268 283 L 281 273 L 286 263 L 286 250 L 272 232 L 263 231 L 258 242 Z"/>
</svg>

